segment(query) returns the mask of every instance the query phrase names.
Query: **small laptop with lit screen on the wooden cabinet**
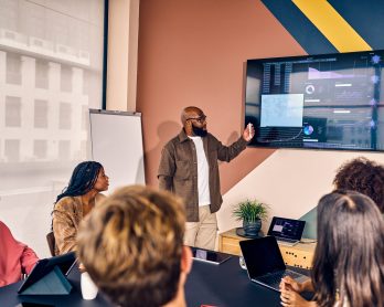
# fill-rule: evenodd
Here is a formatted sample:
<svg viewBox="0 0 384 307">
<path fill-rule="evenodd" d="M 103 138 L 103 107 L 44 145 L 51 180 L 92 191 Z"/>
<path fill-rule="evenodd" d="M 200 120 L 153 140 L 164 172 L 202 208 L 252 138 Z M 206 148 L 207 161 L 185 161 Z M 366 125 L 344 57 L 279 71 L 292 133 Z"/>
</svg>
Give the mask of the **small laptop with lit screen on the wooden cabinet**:
<svg viewBox="0 0 384 307">
<path fill-rule="evenodd" d="M 301 240 L 306 221 L 274 216 L 268 230 L 268 235 L 276 237 L 282 245 L 294 246 Z"/>
</svg>

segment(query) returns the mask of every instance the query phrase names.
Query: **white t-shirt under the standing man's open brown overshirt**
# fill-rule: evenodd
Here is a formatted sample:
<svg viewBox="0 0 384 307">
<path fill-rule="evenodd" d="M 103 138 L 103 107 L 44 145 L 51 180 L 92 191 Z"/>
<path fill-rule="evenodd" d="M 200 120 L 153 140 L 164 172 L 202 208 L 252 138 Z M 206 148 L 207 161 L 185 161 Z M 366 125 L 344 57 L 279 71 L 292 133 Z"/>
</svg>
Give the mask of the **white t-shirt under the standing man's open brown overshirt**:
<svg viewBox="0 0 384 307">
<path fill-rule="evenodd" d="M 199 205 L 207 205 L 211 203 L 210 167 L 206 160 L 203 140 L 201 137 L 189 138 L 193 140 L 196 148 Z"/>
</svg>

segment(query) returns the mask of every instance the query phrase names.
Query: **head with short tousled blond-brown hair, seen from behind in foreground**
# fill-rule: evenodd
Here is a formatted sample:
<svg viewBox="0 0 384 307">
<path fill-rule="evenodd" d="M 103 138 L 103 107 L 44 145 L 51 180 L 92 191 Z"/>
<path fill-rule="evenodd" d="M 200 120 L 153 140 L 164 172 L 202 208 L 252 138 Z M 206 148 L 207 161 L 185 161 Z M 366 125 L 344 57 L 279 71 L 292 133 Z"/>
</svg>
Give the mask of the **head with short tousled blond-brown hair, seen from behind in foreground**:
<svg viewBox="0 0 384 307">
<path fill-rule="evenodd" d="M 185 214 L 168 192 L 122 188 L 82 222 L 77 253 L 90 277 L 119 306 L 185 306 L 192 254 Z"/>
</svg>

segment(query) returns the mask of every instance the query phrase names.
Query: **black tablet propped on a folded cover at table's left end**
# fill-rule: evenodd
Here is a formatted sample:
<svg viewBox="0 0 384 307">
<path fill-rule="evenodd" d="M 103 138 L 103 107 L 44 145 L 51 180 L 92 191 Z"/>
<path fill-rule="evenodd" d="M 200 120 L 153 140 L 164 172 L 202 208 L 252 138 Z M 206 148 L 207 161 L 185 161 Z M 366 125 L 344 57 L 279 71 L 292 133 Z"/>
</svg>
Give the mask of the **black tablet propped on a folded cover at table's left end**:
<svg viewBox="0 0 384 307">
<path fill-rule="evenodd" d="M 22 283 L 18 293 L 19 294 L 22 293 L 29 286 L 33 285 L 38 280 L 43 278 L 45 275 L 52 272 L 55 266 L 60 268 L 60 271 L 63 273 L 64 276 L 67 276 L 71 269 L 75 266 L 75 264 L 76 264 L 75 252 L 71 252 L 71 253 L 51 257 L 51 258 L 40 260 L 36 262 L 31 274 L 26 277 L 24 283 Z"/>
</svg>

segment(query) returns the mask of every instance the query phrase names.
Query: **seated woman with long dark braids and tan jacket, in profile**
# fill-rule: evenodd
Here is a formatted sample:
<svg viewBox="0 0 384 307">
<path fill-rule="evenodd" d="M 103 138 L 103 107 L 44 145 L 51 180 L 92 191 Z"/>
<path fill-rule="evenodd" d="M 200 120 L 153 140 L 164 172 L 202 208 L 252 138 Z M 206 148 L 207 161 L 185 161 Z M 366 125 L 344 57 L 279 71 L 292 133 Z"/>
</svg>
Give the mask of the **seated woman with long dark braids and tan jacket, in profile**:
<svg viewBox="0 0 384 307">
<path fill-rule="evenodd" d="M 55 255 L 76 250 L 78 224 L 105 198 L 100 192 L 108 190 L 108 180 L 99 162 L 82 162 L 74 169 L 52 212 Z"/>
</svg>

